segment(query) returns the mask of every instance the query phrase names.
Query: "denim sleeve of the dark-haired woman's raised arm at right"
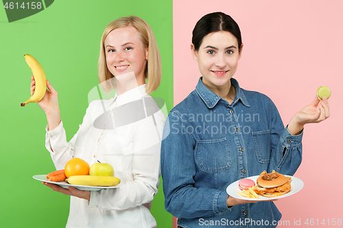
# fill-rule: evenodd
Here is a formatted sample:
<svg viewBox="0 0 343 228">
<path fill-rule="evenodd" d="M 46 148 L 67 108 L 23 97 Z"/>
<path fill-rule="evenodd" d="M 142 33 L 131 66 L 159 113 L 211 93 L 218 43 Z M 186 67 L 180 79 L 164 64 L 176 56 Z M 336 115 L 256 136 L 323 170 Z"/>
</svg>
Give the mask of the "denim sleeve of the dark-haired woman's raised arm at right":
<svg viewBox="0 0 343 228">
<path fill-rule="evenodd" d="M 294 175 L 303 157 L 303 131 L 292 136 L 287 127 L 283 127 L 281 117 L 274 103 L 272 103 L 271 140 L 272 153 L 268 173 L 276 170 L 285 175 Z"/>
</svg>

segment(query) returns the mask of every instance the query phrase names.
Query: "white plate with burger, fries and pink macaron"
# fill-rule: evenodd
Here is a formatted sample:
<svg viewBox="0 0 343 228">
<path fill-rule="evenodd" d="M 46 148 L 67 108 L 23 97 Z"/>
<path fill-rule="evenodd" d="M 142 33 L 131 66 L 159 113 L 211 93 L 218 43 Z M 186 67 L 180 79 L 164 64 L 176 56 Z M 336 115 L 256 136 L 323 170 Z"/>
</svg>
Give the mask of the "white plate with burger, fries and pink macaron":
<svg viewBox="0 0 343 228">
<path fill-rule="evenodd" d="M 296 194 L 304 187 L 297 177 L 263 171 L 260 175 L 247 177 L 231 183 L 226 192 L 237 199 L 247 201 L 270 201 Z"/>
</svg>

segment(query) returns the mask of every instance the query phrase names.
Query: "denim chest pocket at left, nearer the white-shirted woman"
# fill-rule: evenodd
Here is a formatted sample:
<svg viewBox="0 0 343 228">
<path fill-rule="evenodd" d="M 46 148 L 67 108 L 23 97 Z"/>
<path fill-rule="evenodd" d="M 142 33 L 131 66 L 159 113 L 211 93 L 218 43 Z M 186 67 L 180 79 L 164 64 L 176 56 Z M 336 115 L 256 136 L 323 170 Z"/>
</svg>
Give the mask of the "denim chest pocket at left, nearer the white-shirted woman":
<svg viewBox="0 0 343 228">
<path fill-rule="evenodd" d="M 217 173 L 230 169 L 231 154 L 226 138 L 197 140 L 196 163 L 206 173 Z"/>
</svg>

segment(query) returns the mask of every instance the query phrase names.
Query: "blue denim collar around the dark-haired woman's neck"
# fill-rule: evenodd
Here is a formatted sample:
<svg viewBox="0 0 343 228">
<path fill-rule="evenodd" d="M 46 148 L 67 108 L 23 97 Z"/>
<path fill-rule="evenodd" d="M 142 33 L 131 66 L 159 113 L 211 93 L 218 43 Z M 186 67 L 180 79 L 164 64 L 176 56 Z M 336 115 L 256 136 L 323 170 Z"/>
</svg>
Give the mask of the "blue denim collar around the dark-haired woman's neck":
<svg viewBox="0 0 343 228">
<path fill-rule="evenodd" d="M 231 85 L 236 89 L 236 96 L 235 100 L 231 105 L 234 105 L 238 101 L 241 101 L 247 107 L 250 107 L 248 101 L 246 100 L 246 96 L 244 95 L 243 90 L 239 88 L 238 81 L 234 78 L 230 79 Z M 212 92 L 209 88 L 207 88 L 204 83 L 202 82 L 202 77 L 200 77 L 198 81 L 198 85 L 196 86 L 196 92 L 198 92 L 199 96 L 201 97 L 202 101 L 206 104 L 207 107 L 213 108 L 222 97 L 218 96 L 214 92 Z"/>
</svg>

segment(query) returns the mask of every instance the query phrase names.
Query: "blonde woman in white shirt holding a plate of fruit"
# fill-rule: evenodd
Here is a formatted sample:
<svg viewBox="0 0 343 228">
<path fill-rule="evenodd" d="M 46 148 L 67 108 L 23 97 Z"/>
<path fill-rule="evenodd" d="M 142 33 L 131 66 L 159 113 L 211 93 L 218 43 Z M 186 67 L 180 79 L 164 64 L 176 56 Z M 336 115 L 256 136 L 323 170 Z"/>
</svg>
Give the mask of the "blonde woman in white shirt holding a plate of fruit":
<svg viewBox="0 0 343 228">
<path fill-rule="evenodd" d="M 46 147 L 56 169 L 73 157 L 90 165 L 99 160 L 113 166 L 120 186 L 90 192 L 43 183 L 71 195 L 67 227 L 156 227 L 150 207 L 161 173 L 165 117 L 150 96 L 161 81 L 161 59 L 150 26 L 137 16 L 111 22 L 102 35 L 98 68 L 102 88 L 108 94 L 115 89 L 115 96 L 90 103 L 70 142 L 58 94 L 49 81 L 38 105 L 47 115 Z"/>
</svg>

